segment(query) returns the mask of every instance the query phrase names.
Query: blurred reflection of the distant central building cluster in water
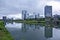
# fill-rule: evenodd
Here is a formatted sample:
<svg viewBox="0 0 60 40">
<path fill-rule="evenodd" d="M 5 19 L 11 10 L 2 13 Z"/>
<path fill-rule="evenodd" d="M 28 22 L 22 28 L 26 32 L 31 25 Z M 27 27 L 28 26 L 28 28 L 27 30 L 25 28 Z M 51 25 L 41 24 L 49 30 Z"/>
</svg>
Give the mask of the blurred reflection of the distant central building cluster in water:
<svg viewBox="0 0 60 40">
<path fill-rule="evenodd" d="M 26 32 L 28 30 L 35 31 L 36 29 L 39 29 L 39 27 L 40 27 L 40 25 L 37 25 L 37 24 L 32 25 L 32 24 L 25 24 L 25 23 L 23 23 L 22 24 L 22 31 L 23 32 Z"/>
</svg>

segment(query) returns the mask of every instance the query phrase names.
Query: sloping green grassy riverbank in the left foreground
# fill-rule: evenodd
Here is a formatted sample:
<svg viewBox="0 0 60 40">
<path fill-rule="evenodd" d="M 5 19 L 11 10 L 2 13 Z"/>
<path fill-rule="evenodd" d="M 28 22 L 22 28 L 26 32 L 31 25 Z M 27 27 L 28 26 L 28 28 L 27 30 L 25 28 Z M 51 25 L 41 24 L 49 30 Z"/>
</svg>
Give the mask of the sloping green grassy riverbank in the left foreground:
<svg viewBox="0 0 60 40">
<path fill-rule="evenodd" d="M 13 40 L 10 33 L 6 30 L 3 21 L 0 21 L 0 40 Z"/>
</svg>

